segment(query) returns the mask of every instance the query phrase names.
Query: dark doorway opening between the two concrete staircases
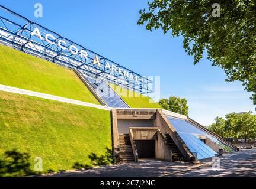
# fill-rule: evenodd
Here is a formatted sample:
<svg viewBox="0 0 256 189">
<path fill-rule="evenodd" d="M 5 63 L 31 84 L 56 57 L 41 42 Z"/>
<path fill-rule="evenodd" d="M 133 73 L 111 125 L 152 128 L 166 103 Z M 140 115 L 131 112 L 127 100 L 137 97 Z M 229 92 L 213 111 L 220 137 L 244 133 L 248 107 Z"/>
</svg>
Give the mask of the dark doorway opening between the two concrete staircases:
<svg viewBox="0 0 256 189">
<path fill-rule="evenodd" d="M 135 141 L 139 158 L 155 158 L 155 140 Z"/>
</svg>

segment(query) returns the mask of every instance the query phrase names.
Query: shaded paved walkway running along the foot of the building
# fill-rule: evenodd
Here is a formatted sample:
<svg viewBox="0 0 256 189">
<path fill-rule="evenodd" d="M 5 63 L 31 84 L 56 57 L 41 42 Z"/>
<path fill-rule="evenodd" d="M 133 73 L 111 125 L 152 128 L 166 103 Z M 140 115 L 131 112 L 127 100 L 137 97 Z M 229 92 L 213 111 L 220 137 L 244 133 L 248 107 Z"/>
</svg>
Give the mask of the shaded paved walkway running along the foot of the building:
<svg viewBox="0 0 256 189">
<path fill-rule="evenodd" d="M 204 165 L 144 160 L 45 177 L 256 177 L 256 149 L 224 155 L 220 158 L 219 171 L 212 169 L 211 160 Z"/>
</svg>

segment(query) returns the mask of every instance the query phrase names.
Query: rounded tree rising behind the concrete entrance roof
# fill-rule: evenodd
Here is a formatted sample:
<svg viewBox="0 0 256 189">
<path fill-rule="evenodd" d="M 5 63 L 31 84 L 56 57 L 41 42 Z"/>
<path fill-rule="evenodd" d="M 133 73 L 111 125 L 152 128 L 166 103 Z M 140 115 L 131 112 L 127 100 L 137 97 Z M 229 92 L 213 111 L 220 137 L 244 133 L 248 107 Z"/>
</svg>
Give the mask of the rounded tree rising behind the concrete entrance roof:
<svg viewBox="0 0 256 189">
<path fill-rule="evenodd" d="M 159 100 L 158 103 L 166 110 L 188 116 L 188 105 L 186 99 L 171 96 L 169 99 Z"/>
</svg>

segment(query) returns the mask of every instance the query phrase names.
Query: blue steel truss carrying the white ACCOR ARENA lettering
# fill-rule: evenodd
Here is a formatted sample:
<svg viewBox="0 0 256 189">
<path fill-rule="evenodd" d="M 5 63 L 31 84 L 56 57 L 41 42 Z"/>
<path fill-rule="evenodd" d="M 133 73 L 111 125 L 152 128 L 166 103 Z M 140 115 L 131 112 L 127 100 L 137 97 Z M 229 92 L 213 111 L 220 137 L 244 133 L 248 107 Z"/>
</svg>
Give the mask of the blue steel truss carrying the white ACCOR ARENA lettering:
<svg viewBox="0 0 256 189">
<path fill-rule="evenodd" d="M 153 92 L 153 81 L 0 5 L 0 42 L 89 77 L 105 80 L 140 94 Z"/>
</svg>

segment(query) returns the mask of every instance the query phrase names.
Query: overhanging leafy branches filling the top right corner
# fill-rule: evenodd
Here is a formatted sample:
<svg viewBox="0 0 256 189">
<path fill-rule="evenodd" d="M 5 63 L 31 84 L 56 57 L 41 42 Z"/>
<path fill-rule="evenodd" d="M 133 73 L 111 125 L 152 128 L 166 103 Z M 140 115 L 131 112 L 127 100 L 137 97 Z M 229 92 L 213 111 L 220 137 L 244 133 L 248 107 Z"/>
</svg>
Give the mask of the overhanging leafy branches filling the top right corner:
<svg viewBox="0 0 256 189">
<path fill-rule="evenodd" d="M 182 35 L 194 64 L 207 51 L 212 66 L 224 69 L 228 82 L 241 81 L 256 104 L 255 0 L 156 0 L 148 5 L 139 11 L 137 24 L 146 24 L 149 31 L 161 28 L 174 37 Z"/>
</svg>

